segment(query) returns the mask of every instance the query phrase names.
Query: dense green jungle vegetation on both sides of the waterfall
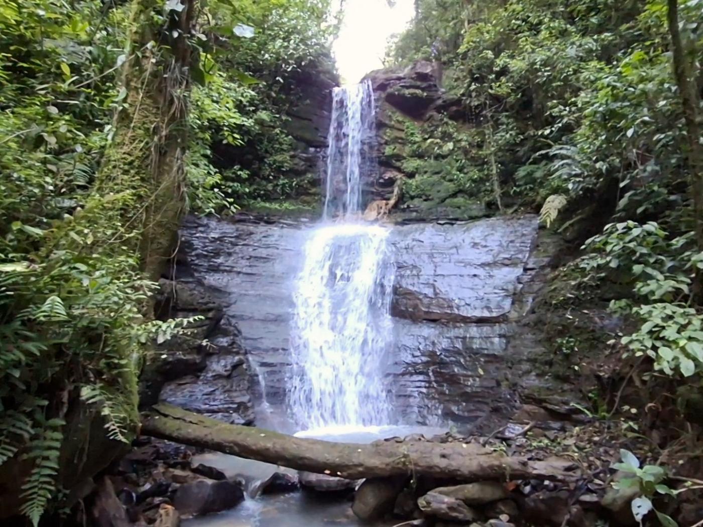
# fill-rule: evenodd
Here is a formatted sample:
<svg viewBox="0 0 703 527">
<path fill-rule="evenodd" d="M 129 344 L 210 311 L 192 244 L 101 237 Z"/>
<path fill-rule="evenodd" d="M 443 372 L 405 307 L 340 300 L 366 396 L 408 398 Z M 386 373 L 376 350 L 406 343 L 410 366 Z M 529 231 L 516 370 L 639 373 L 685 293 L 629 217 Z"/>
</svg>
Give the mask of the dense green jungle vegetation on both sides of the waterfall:
<svg viewBox="0 0 703 527">
<path fill-rule="evenodd" d="M 415 8 L 389 61 L 437 60 L 466 117 L 408 138 L 406 192 L 455 181 L 585 243 L 555 303 L 607 289 L 627 321 L 603 344 L 623 382 L 643 379 L 652 404 L 688 419 L 672 426 L 697 433 L 703 1 Z M 188 323 L 153 320 L 151 300 L 181 216 L 291 193 L 285 110 L 299 72 L 334 74 L 337 23 L 328 0 L 0 5 L 0 482 L 21 487 L 35 526 L 84 445 L 131 441 L 149 344 Z M 221 167 L 215 144 L 257 155 Z M 636 474 L 645 495 L 668 491 Z"/>
</svg>

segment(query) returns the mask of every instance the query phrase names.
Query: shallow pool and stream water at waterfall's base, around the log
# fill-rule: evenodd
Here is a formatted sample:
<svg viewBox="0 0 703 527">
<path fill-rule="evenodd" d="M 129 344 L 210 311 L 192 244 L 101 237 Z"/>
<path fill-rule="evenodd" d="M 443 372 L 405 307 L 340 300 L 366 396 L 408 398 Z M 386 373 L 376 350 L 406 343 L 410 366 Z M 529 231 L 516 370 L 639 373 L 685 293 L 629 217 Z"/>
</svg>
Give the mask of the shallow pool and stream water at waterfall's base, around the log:
<svg viewBox="0 0 703 527">
<path fill-rule="evenodd" d="M 302 431 L 296 436 L 344 443 L 370 443 L 381 438 L 423 434 L 430 438 L 444 434 L 435 427 L 325 427 Z M 274 464 L 245 460 L 220 453 L 194 456 L 193 464 L 203 463 L 223 471 L 228 478 L 245 479 L 247 490 L 276 471 L 290 471 Z M 365 523 L 352 513 L 351 494 L 300 490 L 294 493 L 247 497 L 234 509 L 183 521 L 184 527 L 390 527 L 399 521 Z"/>
</svg>

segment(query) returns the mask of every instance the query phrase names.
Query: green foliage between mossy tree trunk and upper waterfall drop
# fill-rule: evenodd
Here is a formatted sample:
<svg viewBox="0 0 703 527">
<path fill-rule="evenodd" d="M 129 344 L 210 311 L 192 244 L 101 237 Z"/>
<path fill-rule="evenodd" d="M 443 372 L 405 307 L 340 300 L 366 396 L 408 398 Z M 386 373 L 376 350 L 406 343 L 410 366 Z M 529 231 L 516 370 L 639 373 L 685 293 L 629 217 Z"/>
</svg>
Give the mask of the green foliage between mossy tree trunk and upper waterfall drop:
<svg viewBox="0 0 703 527">
<path fill-rule="evenodd" d="M 231 34 L 240 24 L 253 34 L 236 45 L 205 46 L 189 119 L 193 211 L 231 213 L 243 202 L 294 197 L 306 183 L 291 173 L 296 147 L 285 112 L 306 102 L 302 86 L 311 75 L 335 76 L 329 9 L 328 0 L 209 6 L 206 35 Z"/>
</svg>

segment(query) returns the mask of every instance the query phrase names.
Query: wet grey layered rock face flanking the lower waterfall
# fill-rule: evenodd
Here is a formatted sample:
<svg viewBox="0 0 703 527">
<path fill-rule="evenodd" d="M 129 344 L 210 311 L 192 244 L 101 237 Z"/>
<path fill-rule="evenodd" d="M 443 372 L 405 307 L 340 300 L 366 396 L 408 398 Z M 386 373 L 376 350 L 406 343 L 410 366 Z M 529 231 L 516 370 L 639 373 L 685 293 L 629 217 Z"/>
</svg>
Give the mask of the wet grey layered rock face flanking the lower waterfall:
<svg viewBox="0 0 703 527">
<path fill-rule="evenodd" d="M 183 226 L 192 280 L 240 328 L 254 398 L 273 408 L 262 418 L 285 414 L 291 294 L 307 228 L 194 218 Z M 534 216 L 396 226 L 390 243 L 396 344 L 387 374 L 399 419 L 490 427 L 521 393 L 545 385 L 534 375 L 541 334 L 525 318 L 548 263 Z M 180 393 L 168 400 L 187 403 L 188 389 Z M 285 419 L 272 425 L 285 429 Z"/>
</svg>

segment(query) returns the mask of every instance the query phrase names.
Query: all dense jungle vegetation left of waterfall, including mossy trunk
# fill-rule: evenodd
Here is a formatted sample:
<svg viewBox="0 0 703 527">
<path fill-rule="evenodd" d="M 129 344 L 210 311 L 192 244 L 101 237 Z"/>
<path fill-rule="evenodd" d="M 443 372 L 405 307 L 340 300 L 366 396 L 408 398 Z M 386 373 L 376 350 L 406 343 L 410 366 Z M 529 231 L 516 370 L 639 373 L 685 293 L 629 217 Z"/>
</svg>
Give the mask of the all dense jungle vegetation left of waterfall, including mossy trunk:
<svg viewBox="0 0 703 527">
<path fill-rule="evenodd" d="M 70 486 L 67 460 L 114 457 L 91 438 L 134 436 L 148 343 L 186 323 L 150 314 L 179 218 L 247 196 L 247 170 L 214 167 L 211 147 L 254 144 L 276 183 L 297 72 L 333 71 L 328 13 L 326 0 L 0 6 L 0 465 L 34 525 Z"/>
</svg>

